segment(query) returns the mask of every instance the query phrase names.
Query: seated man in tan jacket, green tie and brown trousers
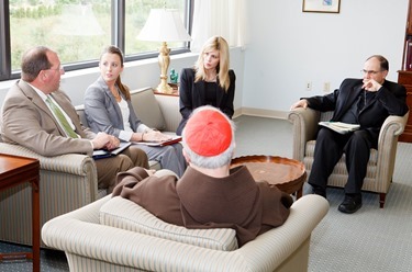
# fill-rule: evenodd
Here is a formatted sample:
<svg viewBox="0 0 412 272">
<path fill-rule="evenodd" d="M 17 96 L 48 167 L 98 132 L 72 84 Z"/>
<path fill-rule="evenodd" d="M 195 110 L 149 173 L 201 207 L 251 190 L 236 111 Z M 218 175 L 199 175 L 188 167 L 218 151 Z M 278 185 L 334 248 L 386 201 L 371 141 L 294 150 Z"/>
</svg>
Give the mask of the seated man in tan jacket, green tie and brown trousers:
<svg viewBox="0 0 412 272">
<path fill-rule="evenodd" d="M 21 80 L 11 87 L 3 102 L 2 140 L 42 156 L 91 156 L 93 149 L 119 147 L 118 138 L 94 134 L 80 124 L 70 99 L 59 90 L 64 72 L 57 54 L 47 47 L 34 47 L 24 54 Z M 58 107 L 57 112 L 53 107 Z M 96 160 L 96 166 L 99 189 L 111 192 L 118 172 L 136 166 L 148 169 L 148 161 L 143 150 L 130 147 L 115 157 Z"/>
</svg>

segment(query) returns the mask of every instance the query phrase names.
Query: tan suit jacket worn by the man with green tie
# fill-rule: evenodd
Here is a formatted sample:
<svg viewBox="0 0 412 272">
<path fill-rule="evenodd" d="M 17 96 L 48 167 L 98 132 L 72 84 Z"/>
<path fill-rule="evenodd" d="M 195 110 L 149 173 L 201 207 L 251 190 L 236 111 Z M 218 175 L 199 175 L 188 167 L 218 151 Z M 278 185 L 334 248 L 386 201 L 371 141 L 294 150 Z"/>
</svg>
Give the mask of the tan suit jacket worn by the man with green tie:
<svg viewBox="0 0 412 272">
<path fill-rule="evenodd" d="M 71 118 L 81 138 L 67 137 L 42 98 L 30 84 L 19 80 L 10 88 L 3 102 L 2 140 L 27 147 L 42 156 L 92 155 L 90 139 L 96 134 L 80 124 L 76 109 L 63 91 L 55 91 L 52 97 Z"/>
</svg>

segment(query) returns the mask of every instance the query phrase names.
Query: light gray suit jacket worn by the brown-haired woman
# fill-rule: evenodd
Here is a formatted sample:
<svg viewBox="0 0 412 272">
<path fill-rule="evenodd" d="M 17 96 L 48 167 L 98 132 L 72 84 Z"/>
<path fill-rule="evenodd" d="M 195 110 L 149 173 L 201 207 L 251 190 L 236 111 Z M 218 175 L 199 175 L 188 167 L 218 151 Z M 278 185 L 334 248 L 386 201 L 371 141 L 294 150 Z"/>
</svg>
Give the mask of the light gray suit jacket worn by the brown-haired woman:
<svg viewBox="0 0 412 272">
<path fill-rule="evenodd" d="M 125 98 L 121 93 L 123 100 Z M 137 118 L 131 101 L 125 100 L 130 110 L 129 123 L 133 132 L 142 124 Z M 99 77 L 85 92 L 85 113 L 93 132 L 105 132 L 119 138 L 124 131 L 123 116 L 118 102 L 102 77 Z"/>
</svg>

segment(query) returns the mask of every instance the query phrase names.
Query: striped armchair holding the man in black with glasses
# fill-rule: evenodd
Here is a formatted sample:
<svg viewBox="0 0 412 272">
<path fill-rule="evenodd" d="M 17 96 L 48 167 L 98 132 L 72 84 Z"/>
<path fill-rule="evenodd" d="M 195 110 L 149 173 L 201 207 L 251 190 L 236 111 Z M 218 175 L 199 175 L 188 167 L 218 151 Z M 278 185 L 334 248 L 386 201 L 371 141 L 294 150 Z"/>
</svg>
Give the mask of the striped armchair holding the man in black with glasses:
<svg viewBox="0 0 412 272">
<path fill-rule="evenodd" d="M 319 112 L 311 109 L 292 110 L 288 120 L 293 124 L 293 159 L 303 161 L 308 177 L 313 165 L 314 146 L 316 144 L 318 123 L 330 121 L 333 112 Z M 378 149 L 370 150 L 363 190 L 379 193 L 379 205 L 385 205 L 386 194 L 392 182 L 398 137 L 402 134 L 408 121 L 404 116 L 390 115 L 383 122 L 379 134 Z M 347 181 L 345 154 L 335 166 L 330 179 L 330 186 L 344 188 Z"/>
</svg>

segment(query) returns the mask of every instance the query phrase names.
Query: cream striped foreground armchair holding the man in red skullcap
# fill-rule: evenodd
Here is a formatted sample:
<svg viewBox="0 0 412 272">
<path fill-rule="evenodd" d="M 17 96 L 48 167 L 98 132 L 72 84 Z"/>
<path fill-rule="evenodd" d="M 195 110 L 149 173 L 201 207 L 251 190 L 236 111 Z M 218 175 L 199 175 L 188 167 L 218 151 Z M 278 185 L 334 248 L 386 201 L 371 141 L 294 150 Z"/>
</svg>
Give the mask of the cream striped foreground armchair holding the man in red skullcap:
<svg viewBox="0 0 412 272">
<path fill-rule="evenodd" d="M 65 251 L 70 271 L 307 271 L 311 233 L 329 211 L 325 199 L 304 195 L 282 226 L 224 251 L 155 237 L 151 231 L 162 225 L 158 218 L 145 231 L 133 229 L 138 222 L 131 222 L 141 217 L 132 207 L 137 205 L 115 199 L 108 195 L 43 226 L 43 241 Z M 107 218 L 110 211 L 114 212 Z M 140 224 L 151 220 L 147 216 Z M 176 235 L 188 236 L 183 230 Z"/>
</svg>

